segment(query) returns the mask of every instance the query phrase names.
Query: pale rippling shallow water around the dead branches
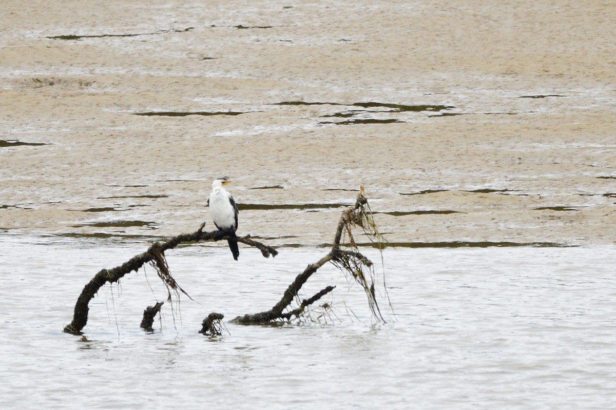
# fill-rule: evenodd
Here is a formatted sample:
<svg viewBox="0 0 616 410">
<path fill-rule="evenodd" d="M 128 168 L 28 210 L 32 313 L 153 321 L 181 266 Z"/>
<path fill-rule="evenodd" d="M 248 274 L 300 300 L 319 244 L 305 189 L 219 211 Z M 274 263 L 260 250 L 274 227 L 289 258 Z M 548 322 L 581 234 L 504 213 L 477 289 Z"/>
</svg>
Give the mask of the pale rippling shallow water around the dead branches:
<svg viewBox="0 0 616 410">
<path fill-rule="evenodd" d="M 284 248 L 272 260 L 243 247 L 235 263 L 225 247 L 193 245 L 168 262 L 197 303 L 182 297 L 174 313 L 166 303 L 155 332 L 139 329 L 144 308 L 165 298 L 147 268 L 101 289 L 84 338 L 64 334 L 84 284 L 146 247 L 2 236 L 1 408 L 596 409 L 616 400 L 615 247 L 389 248 L 386 324 L 370 320 L 359 287 L 324 267 L 307 293 L 336 284 L 337 318 L 225 323 L 222 337 L 206 337 L 198 330 L 209 312 L 226 322 L 271 307 L 324 252 Z"/>
</svg>

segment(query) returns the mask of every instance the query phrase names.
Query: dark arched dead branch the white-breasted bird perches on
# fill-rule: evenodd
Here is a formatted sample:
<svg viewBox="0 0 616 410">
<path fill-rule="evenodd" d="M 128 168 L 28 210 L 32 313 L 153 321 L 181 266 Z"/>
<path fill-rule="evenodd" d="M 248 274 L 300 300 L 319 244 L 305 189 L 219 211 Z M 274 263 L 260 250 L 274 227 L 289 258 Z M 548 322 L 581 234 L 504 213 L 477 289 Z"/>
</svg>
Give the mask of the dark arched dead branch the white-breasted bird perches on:
<svg viewBox="0 0 616 410">
<path fill-rule="evenodd" d="M 166 262 L 164 261 L 164 252 L 168 251 L 169 249 L 173 249 L 179 244 L 229 239 L 227 235 L 220 236 L 218 231 L 203 232 L 202 229 L 203 225 L 201 225 L 201 227 L 193 233 L 183 233 L 181 235 L 174 236 L 173 238 L 163 243 L 156 242 L 152 244 L 152 246 L 150 246 L 147 251 L 132 257 L 128 260 L 128 262 L 124 262 L 122 265 L 113 269 L 100 270 L 99 273 L 94 275 L 94 278 L 92 278 L 86 284 L 86 286 L 84 286 L 83 291 L 81 291 L 81 294 L 79 295 L 75 303 L 73 321 L 71 321 L 70 324 L 65 326 L 64 331 L 71 334 L 81 334 L 81 330 L 87 324 L 87 314 L 89 312 L 88 303 L 94 298 L 99 289 L 105 283 L 117 282 L 121 278 L 123 278 L 124 275 L 130 273 L 131 271 L 139 270 L 140 267 L 142 267 L 145 263 L 148 262 L 154 261 L 155 265 L 159 268 L 163 265 L 166 265 Z M 269 257 L 270 255 L 274 257 L 278 254 L 278 252 L 273 247 L 266 246 L 262 243 L 253 241 L 252 239 L 249 239 L 249 236 L 237 238 L 237 241 L 247 244 L 249 246 L 257 247 L 264 255 L 264 257 Z M 163 255 L 162 259 L 161 255 Z M 163 265 L 159 266 L 160 263 L 162 263 Z M 168 268 L 166 269 L 166 271 L 168 273 Z M 166 283 L 166 285 L 171 284 L 171 289 L 179 289 L 180 291 L 184 292 L 180 287 L 177 286 L 174 280 L 171 281 L 167 278 L 163 279 L 163 282 Z M 172 287 L 173 285 L 176 285 L 176 287 Z"/>
</svg>

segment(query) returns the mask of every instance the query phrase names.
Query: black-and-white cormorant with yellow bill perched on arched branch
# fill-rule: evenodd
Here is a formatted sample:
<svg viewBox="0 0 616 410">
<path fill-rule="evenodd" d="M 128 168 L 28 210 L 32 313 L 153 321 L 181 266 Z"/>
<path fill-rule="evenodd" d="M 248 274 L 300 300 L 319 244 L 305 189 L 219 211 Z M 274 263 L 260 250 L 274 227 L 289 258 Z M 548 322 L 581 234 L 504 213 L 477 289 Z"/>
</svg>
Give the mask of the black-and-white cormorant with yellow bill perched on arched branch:
<svg viewBox="0 0 616 410">
<path fill-rule="evenodd" d="M 209 215 L 212 217 L 212 222 L 216 228 L 222 233 L 235 238 L 235 230 L 237 230 L 237 205 L 233 201 L 233 197 L 223 185 L 231 183 L 229 178 L 216 178 L 212 183 L 212 193 L 209 194 L 208 206 Z M 237 242 L 228 239 L 229 249 L 233 254 L 233 259 L 237 260 L 240 256 L 240 249 L 237 247 Z"/>
</svg>

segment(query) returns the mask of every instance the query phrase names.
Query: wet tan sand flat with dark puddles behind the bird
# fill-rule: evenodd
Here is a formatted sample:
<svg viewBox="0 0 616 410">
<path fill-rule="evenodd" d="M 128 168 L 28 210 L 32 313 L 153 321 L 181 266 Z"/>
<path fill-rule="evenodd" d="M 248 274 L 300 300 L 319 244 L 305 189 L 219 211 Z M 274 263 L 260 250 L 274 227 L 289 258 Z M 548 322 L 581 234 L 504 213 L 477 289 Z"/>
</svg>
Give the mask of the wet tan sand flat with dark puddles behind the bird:
<svg viewBox="0 0 616 410">
<path fill-rule="evenodd" d="M 275 245 L 330 242 L 361 185 L 397 246 L 616 243 L 607 2 L 4 9 L 0 231 L 207 229 L 228 175 Z"/>
</svg>

